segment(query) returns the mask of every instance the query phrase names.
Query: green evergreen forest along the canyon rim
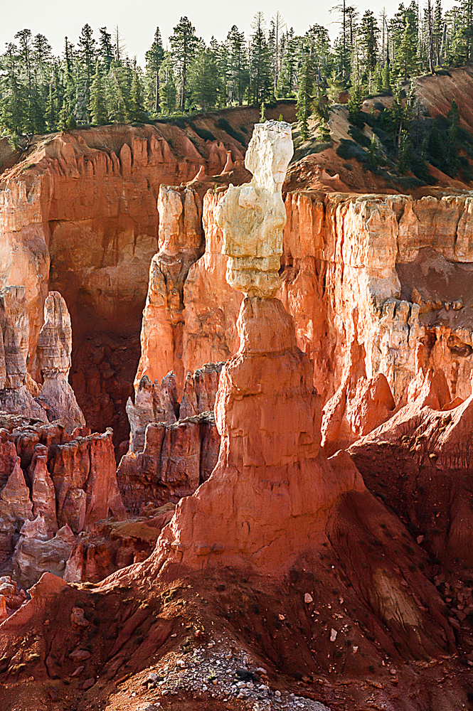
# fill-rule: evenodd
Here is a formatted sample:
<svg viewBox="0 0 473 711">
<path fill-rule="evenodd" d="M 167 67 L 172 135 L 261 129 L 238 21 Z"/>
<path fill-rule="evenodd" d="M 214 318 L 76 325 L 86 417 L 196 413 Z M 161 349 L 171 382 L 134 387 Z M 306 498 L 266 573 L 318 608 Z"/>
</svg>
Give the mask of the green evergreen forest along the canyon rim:
<svg viewBox="0 0 473 711">
<path fill-rule="evenodd" d="M 245 104 L 264 113 L 275 100 L 293 99 L 302 139 L 312 115 L 327 139 L 327 106 L 348 91 L 356 136 L 363 97 L 393 94 L 393 109 L 381 113 L 376 130 L 396 161 L 413 169 L 410 126 L 418 98 L 410 80 L 472 61 L 472 1 L 457 0 L 444 11 L 442 0 L 425 0 L 423 6 L 412 0 L 388 17 L 341 0 L 331 13 L 339 28 L 334 41 L 317 23 L 296 35 L 278 12 L 269 21 L 257 13 L 249 36 L 233 25 L 225 38 L 212 37 L 208 45 L 191 20 L 181 17 L 167 41 L 156 28 L 144 66 L 129 57 L 118 27 L 94 30 L 86 24 L 74 41 L 65 37 L 60 55 L 42 34 L 20 30 L 0 55 L 0 135 L 18 144 L 28 134 L 178 119 Z M 435 154 L 437 164 L 448 169 L 458 134 L 452 107 L 447 124 L 430 126 L 415 151 Z M 368 164 L 376 162 L 375 146 L 364 147 Z M 343 151 L 348 156 L 355 149 L 342 146 Z M 458 169 L 452 164 L 450 173 Z"/>
</svg>

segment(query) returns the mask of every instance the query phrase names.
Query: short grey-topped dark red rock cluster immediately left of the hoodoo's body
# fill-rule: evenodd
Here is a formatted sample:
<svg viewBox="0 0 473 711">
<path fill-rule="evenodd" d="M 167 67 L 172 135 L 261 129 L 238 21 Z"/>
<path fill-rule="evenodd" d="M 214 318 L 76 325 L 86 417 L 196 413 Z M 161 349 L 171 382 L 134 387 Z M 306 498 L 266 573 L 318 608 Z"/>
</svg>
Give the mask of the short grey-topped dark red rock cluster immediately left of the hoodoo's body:
<svg viewBox="0 0 473 711">
<path fill-rule="evenodd" d="M 142 377 L 134 405 L 127 403 L 130 451 L 117 469 L 128 510 L 139 513 L 148 503 L 177 503 L 210 476 L 220 447 L 213 407 L 222 366 L 206 363 L 187 373 L 180 403 L 174 373 L 161 385 Z"/>
</svg>

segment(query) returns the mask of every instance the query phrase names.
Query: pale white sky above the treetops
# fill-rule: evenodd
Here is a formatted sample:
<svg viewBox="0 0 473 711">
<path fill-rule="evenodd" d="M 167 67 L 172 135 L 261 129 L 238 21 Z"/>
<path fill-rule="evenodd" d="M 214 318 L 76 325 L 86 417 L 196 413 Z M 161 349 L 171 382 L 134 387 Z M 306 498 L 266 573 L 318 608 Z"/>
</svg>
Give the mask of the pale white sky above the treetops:
<svg viewBox="0 0 473 711">
<path fill-rule="evenodd" d="M 67 35 L 77 43 L 80 29 L 89 23 L 98 37 L 98 28 L 107 26 L 108 31 L 118 24 L 130 58 L 134 55 L 144 64 L 144 53 L 153 41 L 156 26 L 161 28 L 164 45 L 172 28 L 181 16 L 188 16 L 196 33 L 208 42 L 212 35 L 223 41 L 230 27 L 235 24 L 248 35 L 255 12 L 262 11 L 267 23 L 279 10 L 288 27 L 296 34 L 303 34 L 309 25 L 319 23 L 328 26 L 332 38 L 338 32 L 336 14 L 330 14 L 332 5 L 341 0 L 327 2 L 310 0 L 0 0 L 0 51 L 5 43 L 13 42 L 18 30 L 29 28 L 33 35 L 46 35 L 55 54 L 63 51 Z M 363 14 L 371 9 L 379 14 L 386 7 L 388 16 L 398 8 L 397 0 L 367 0 L 357 4 Z M 449 9 L 453 0 L 444 0 L 444 9 Z M 332 23 L 329 25 L 329 23 Z"/>
</svg>

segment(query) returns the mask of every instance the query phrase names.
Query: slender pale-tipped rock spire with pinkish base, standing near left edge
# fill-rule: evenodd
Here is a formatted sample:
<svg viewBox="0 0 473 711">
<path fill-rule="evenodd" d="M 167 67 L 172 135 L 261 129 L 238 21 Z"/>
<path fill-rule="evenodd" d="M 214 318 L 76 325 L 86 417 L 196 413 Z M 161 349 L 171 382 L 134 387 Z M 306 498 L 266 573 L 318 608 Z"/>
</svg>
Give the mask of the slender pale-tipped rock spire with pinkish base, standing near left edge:
<svg viewBox="0 0 473 711">
<path fill-rule="evenodd" d="M 68 432 L 85 425 L 83 412 L 68 379 L 72 338 L 68 307 L 58 292 L 49 292 L 36 351 L 43 375 L 38 401 L 45 408 L 49 421 L 57 420 Z"/>
</svg>

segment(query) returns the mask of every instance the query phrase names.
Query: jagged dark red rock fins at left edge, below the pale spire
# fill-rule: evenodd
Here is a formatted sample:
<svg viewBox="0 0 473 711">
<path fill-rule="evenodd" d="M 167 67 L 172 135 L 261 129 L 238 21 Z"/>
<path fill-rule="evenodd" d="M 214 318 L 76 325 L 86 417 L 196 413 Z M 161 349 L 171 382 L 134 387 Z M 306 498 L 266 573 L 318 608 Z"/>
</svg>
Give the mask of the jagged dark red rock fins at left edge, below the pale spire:
<svg viewBox="0 0 473 711">
<path fill-rule="evenodd" d="M 0 426 L 0 565 L 29 587 L 63 575 L 75 534 L 124 518 L 112 437 L 3 412 Z"/>
</svg>

